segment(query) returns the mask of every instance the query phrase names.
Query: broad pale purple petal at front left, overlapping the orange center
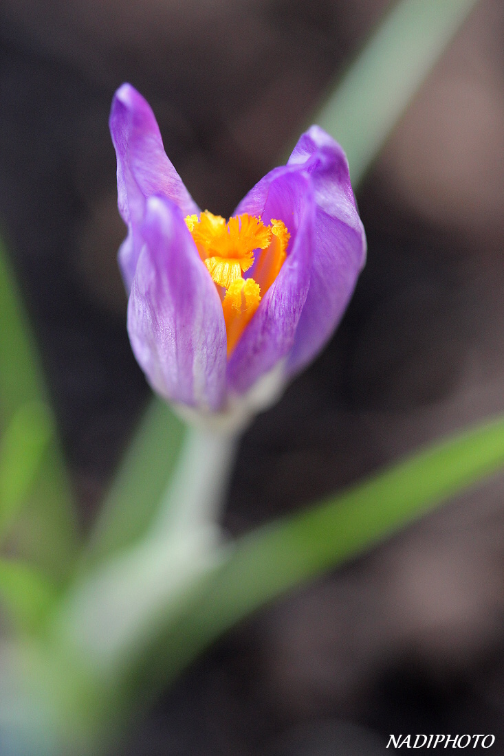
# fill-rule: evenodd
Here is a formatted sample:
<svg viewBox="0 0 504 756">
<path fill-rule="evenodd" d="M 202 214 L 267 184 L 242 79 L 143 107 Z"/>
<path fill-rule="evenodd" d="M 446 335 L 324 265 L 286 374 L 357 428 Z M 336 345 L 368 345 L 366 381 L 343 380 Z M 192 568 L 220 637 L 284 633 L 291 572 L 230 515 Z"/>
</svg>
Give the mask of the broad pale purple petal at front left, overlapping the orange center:
<svg viewBox="0 0 504 756">
<path fill-rule="evenodd" d="M 135 358 L 166 399 L 219 409 L 226 392 L 226 325 L 213 280 L 182 212 L 147 200 L 144 245 L 128 304 Z"/>
</svg>

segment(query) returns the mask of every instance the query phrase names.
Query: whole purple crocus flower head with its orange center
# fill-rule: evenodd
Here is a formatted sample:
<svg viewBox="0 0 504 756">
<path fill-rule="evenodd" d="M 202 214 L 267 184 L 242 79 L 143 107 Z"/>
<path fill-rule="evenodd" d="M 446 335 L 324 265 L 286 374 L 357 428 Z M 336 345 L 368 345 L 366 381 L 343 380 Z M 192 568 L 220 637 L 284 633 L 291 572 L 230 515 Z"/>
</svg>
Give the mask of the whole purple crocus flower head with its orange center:
<svg viewBox="0 0 504 756">
<path fill-rule="evenodd" d="M 194 203 L 129 84 L 114 96 L 110 132 L 135 357 L 179 409 L 250 415 L 320 352 L 364 265 L 344 151 L 312 126 L 226 223 Z"/>
</svg>

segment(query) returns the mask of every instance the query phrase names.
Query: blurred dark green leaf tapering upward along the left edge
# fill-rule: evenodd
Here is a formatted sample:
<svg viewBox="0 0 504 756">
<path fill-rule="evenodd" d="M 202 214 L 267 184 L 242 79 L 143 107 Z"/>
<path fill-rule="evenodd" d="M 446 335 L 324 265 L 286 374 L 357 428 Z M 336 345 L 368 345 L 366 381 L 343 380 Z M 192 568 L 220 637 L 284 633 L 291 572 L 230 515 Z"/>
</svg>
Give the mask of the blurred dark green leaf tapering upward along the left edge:
<svg viewBox="0 0 504 756">
<path fill-rule="evenodd" d="M 63 578 L 76 550 L 73 497 L 58 439 L 50 430 L 55 423 L 39 356 L 1 240 L 0 302 L 0 427 L 2 435 L 7 434 L 0 462 L 4 487 L 0 493 L 7 503 L 0 504 L 0 510 L 5 510 L 6 522 L 17 525 L 17 553 Z M 27 434 L 24 440 L 23 432 Z M 45 434 L 49 437 L 44 441 Z M 39 463 L 38 454 L 42 455 Z M 22 508 L 18 507 L 21 494 L 24 498 L 30 494 Z M 12 522 L 16 509 L 26 520 Z"/>
</svg>

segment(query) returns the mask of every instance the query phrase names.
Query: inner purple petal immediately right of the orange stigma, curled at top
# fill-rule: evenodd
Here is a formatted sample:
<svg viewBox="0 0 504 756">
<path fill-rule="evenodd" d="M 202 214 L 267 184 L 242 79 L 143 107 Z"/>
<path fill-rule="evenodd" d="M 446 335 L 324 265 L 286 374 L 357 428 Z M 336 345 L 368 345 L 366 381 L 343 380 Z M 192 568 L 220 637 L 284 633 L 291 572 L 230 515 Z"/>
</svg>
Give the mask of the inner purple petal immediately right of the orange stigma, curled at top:
<svg viewBox="0 0 504 756">
<path fill-rule="evenodd" d="M 247 211 L 243 211 L 247 212 Z M 267 187 L 263 220 L 285 222 L 291 232 L 288 258 L 263 296 L 229 359 L 229 386 L 242 393 L 288 355 L 310 286 L 314 203 L 310 178 L 282 169 Z"/>
</svg>

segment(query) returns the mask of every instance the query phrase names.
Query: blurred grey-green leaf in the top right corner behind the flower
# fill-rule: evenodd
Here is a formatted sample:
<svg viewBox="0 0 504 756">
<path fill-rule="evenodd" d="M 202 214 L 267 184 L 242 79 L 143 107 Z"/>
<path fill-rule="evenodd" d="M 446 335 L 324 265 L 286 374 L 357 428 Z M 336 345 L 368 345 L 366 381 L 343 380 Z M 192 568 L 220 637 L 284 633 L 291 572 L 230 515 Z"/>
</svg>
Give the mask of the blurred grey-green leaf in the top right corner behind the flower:
<svg viewBox="0 0 504 756">
<path fill-rule="evenodd" d="M 331 91 L 314 120 L 347 153 L 354 187 L 476 2 L 398 2 Z"/>
</svg>

